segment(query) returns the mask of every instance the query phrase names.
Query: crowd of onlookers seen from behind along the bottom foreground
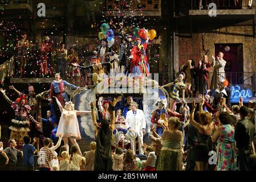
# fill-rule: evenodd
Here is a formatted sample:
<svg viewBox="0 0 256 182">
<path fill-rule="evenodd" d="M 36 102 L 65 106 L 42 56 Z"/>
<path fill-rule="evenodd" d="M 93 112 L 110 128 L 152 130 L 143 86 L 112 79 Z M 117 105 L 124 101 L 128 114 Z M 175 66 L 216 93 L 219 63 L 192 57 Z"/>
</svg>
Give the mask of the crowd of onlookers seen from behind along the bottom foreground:
<svg viewBox="0 0 256 182">
<path fill-rule="evenodd" d="M 149 134 L 151 143 L 148 145 L 144 143 L 142 146 L 145 151 L 145 160 L 141 160 L 132 150 L 123 150 L 117 146 L 111 154 L 109 153 L 111 158 L 103 159 L 103 151 L 100 147 L 111 143 L 112 135 L 108 139 L 108 133 L 112 132 L 112 125 L 104 125 L 104 121 L 101 127 L 97 127 L 98 123 L 95 123 L 96 142 L 91 142 L 90 151 L 84 152 L 83 155 L 79 155 L 76 146 L 71 146 L 70 151 L 60 146 L 62 136 L 59 137 L 55 146 L 50 138 L 44 139 L 44 147 L 39 149 L 36 138 L 31 141 L 31 138 L 26 135 L 23 138 L 25 144 L 22 151 L 15 148 L 16 141 L 10 139 L 4 150 L 3 143 L 0 142 L 0 152 L 5 158 L 7 170 L 15 170 L 17 156 L 22 155 L 23 169 L 27 171 L 35 169 L 92 171 L 104 170 L 104 165 L 107 166 L 107 170 L 114 171 L 254 171 L 256 169 L 255 103 L 250 101 L 249 107 L 243 106 L 243 101 L 240 99 L 239 106 L 233 105 L 229 109 L 224 104 L 220 105 L 216 113 L 210 113 L 203 110 L 204 102 L 205 99 L 201 98 L 199 110 L 196 111 L 197 105 L 193 101 L 190 118 L 184 123 L 184 127 L 181 127 L 182 122 L 179 118 L 170 117 L 169 126 L 162 125 L 163 133 L 160 137 L 156 133 L 155 125 L 152 125 Z M 95 104 L 92 103 L 91 106 L 92 119 L 96 122 L 93 111 Z M 111 112 L 115 115 L 115 110 Z M 111 123 L 114 122 L 115 117 L 112 118 Z M 59 154 L 55 152 L 57 148 L 59 148 Z M 104 151 L 106 156 L 108 156 L 107 150 Z M 34 155 L 39 156 L 36 168 Z"/>
</svg>

